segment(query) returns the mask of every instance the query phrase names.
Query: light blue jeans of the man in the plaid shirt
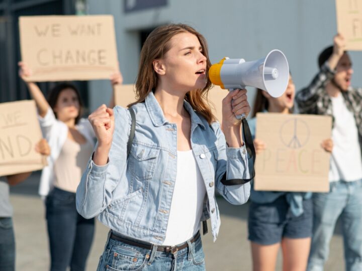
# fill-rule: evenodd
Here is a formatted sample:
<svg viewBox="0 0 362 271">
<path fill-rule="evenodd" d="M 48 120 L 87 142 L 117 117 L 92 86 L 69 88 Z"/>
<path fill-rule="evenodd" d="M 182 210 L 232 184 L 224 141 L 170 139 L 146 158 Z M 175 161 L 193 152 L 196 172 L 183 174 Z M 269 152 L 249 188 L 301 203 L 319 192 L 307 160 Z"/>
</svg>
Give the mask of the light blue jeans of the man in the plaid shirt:
<svg viewBox="0 0 362 271">
<path fill-rule="evenodd" d="M 362 270 L 362 180 L 331 183 L 329 193 L 314 193 L 313 211 L 308 271 L 323 270 L 339 216 L 342 219 L 346 271 Z"/>
</svg>

